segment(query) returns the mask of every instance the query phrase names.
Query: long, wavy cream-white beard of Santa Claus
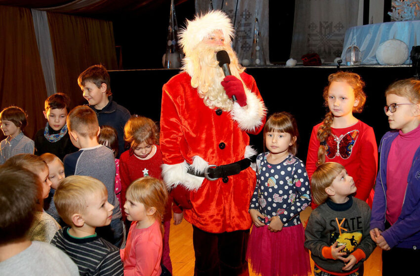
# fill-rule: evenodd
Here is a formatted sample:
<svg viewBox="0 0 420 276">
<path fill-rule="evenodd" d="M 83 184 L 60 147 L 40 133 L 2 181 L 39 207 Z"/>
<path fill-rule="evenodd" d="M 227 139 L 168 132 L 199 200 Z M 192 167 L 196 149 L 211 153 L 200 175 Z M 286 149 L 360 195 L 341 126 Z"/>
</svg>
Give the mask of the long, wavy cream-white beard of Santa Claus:
<svg viewBox="0 0 420 276">
<path fill-rule="evenodd" d="M 191 86 L 197 88 L 198 94 L 206 106 L 211 109 L 217 107 L 224 111 L 230 111 L 233 102 L 227 97 L 221 85 L 225 76 L 216 60 L 216 52 L 220 50 L 225 50 L 229 54 L 231 73 L 242 81 L 239 73 L 244 69 L 238 64 L 236 54 L 231 47 L 200 43 L 192 56 L 184 58 L 182 69 L 191 76 Z"/>
</svg>

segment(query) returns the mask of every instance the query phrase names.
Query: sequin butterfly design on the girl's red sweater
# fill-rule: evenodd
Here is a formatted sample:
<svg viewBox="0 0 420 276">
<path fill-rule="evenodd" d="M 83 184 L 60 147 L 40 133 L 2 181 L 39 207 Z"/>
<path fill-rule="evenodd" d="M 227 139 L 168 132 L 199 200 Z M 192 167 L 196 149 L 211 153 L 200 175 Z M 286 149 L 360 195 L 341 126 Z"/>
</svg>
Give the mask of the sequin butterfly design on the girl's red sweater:
<svg viewBox="0 0 420 276">
<path fill-rule="evenodd" d="M 358 136 L 358 130 L 349 131 L 340 137 L 331 134 L 328 136 L 327 141 L 323 143 L 325 154 L 330 159 L 336 156 L 340 156 L 342 159 L 348 159 Z"/>
</svg>

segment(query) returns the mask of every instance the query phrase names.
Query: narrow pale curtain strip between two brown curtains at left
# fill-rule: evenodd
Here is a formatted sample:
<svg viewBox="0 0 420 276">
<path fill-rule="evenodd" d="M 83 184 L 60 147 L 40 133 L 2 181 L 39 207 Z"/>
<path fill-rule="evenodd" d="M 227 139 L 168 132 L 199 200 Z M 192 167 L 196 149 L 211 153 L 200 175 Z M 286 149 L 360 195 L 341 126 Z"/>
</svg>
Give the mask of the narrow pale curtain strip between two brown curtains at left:
<svg viewBox="0 0 420 276">
<path fill-rule="evenodd" d="M 49 35 L 46 11 L 31 9 L 35 36 L 41 58 L 42 72 L 48 96 L 56 93 L 54 55 L 52 53 L 51 37 Z"/>
</svg>

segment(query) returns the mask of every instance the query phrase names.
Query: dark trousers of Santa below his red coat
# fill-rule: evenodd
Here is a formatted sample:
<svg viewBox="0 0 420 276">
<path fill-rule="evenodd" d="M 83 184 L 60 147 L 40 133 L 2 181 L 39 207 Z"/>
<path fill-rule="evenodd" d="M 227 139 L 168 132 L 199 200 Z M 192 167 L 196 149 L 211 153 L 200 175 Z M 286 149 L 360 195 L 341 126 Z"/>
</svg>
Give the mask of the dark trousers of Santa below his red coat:
<svg viewBox="0 0 420 276">
<path fill-rule="evenodd" d="M 196 276 L 248 276 L 247 253 L 250 230 L 219 234 L 193 226 Z"/>
</svg>

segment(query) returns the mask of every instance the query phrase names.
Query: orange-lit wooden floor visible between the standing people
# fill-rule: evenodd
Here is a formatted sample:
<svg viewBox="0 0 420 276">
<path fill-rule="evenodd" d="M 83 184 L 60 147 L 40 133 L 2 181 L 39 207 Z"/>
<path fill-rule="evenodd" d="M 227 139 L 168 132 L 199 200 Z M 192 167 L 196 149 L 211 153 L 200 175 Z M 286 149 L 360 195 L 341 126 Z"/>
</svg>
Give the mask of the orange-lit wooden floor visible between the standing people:
<svg viewBox="0 0 420 276">
<path fill-rule="evenodd" d="M 306 208 L 300 215 L 302 221 L 306 221 L 312 209 Z M 180 225 L 170 225 L 169 233 L 170 258 L 172 260 L 173 276 L 192 276 L 194 275 L 194 248 L 193 248 L 193 228 L 185 219 Z M 382 250 L 377 247 L 365 262 L 365 276 L 382 275 Z M 313 269 L 313 262 L 311 260 Z M 313 272 L 312 272 L 313 275 Z M 250 276 L 256 276 L 250 268 Z"/>
</svg>

